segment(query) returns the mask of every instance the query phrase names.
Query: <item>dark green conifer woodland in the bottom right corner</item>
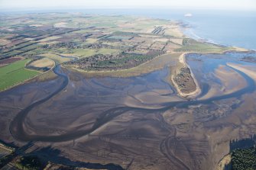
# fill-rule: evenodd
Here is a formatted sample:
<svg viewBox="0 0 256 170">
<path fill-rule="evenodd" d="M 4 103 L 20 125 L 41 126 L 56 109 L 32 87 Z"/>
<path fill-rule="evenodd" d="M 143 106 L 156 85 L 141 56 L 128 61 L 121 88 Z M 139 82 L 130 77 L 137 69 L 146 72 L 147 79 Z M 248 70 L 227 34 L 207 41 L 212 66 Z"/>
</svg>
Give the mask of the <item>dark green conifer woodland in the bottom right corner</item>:
<svg viewBox="0 0 256 170">
<path fill-rule="evenodd" d="M 256 169 L 256 147 L 235 149 L 231 156 L 232 170 Z"/>
</svg>

